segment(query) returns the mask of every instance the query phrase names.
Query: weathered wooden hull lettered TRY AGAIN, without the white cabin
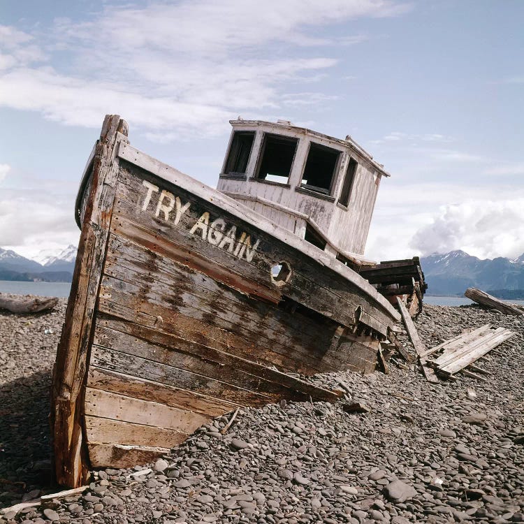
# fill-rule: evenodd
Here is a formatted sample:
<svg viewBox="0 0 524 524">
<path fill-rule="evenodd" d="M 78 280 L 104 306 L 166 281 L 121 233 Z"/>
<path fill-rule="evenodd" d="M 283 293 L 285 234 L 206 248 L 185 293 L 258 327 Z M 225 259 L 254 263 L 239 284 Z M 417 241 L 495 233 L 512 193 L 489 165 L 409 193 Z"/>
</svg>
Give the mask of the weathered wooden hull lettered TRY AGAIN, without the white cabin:
<svg viewBox="0 0 524 524">
<path fill-rule="evenodd" d="M 336 400 L 297 374 L 372 371 L 398 319 L 342 263 L 135 150 L 117 116 L 77 208 L 52 390 L 59 483 L 152 460 L 235 407 Z"/>
</svg>

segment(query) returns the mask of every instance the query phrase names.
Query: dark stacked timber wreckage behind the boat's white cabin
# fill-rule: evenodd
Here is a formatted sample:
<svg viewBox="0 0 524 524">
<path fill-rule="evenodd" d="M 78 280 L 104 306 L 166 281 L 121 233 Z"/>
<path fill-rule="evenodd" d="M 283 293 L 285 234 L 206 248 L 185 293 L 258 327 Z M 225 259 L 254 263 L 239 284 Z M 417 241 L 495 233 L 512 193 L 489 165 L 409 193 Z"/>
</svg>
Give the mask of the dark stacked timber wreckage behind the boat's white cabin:
<svg viewBox="0 0 524 524">
<path fill-rule="evenodd" d="M 414 316 L 422 310 L 422 299 L 428 284 L 425 283 L 421 261 L 418 256 L 405 260 L 390 260 L 374 265 L 361 265 L 358 271 L 367 282 L 392 304 L 402 298 L 409 314 Z"/>
</svg>

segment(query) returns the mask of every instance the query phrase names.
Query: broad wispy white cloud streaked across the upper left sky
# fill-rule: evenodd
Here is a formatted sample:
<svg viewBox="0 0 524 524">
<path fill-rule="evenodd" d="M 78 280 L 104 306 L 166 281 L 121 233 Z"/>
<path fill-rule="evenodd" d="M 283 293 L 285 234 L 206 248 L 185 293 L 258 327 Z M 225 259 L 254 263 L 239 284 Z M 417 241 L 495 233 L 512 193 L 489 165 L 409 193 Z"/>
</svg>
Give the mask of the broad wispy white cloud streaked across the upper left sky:
<svg viewBox="0 0 524 524">
<path fill-rule="evenodd" d="M 228 119 L 240 111 L 276 113 L 331 99 L 293 89 L 316 82 L 337 64 L 323 56 L 335 40 L 311 36 L 312 28 L 408 9 L 393 0 L 105 6 L 89 22 L 62 18 L 47 34 L 40 29 L 42 48 L 51 58 L 67 53 L 67 69 L 45 66 L 48 57 L 33 36 L 0 26 L 8 42 L 0 46 L 0 105 L 91 127 L 99 127 L 105 113 L 119 113 L 163 141 L 187 133 L 213 136 L 226 131 Z M 347 34 L 337 41 L 365 38 Z"/>
</svg>

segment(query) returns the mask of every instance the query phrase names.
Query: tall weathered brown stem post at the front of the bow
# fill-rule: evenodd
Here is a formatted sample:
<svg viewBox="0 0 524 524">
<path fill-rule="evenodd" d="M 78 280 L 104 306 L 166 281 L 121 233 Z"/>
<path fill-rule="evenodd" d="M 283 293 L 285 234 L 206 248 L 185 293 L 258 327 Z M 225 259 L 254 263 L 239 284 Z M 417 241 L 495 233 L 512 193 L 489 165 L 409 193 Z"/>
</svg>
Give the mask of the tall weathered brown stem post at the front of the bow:
<svg viewBox="0 0 524 524">
<path fill-rule="evenodd" d="M 80 486 L 89 469 L 80 421 L 83 386 L 115 200 L 117 144 L 122 140 L 127 141 L 126 136 L 126 122 L 118 115 L 106 115 L 96 145 L 91 182 L 89 187 L 83 188 L 83 191 L 89 191 L 89 197 L 52 381 L 54 469 L 57 482 L 64 486 Z"/>
</svg>

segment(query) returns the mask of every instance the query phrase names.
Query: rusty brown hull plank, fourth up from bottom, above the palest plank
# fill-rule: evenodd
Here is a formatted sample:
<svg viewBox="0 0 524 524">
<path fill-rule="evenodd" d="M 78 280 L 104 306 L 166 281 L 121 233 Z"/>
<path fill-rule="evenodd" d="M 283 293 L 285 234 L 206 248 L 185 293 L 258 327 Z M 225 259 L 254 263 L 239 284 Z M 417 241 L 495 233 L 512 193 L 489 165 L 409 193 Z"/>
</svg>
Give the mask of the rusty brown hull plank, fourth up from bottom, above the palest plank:
<svg viewBox="0 0 524 524">
<path fill-rule="evenodd" d="M 167 386 L 152 380 L 138 379 L 124 373 L 103 370 L 94 365 L 89 367 L 87 386 L 141 400 L 152 400 L 152 402 L 159 402 L 166 406 L 179 407 L 210 416 L 223 415 L 239 406 L 235 402 L 228 402 L 175 386 Z"/>
</svg>

